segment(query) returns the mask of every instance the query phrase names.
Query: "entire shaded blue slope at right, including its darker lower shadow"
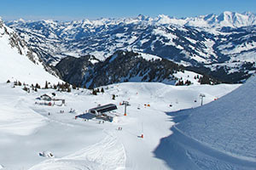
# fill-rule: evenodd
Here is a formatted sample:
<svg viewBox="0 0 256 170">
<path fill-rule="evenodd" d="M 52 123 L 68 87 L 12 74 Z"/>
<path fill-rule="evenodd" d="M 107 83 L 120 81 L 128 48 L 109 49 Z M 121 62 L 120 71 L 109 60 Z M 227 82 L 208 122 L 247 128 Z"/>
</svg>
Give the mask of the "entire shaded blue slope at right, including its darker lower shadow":
<svg viewBox="0 0 256 170">
<path fill-rule="evenodd" d="M 189 169 L 255 169 L 255 85 L 253 76 L 210 104 L 170 113 L 173 120 L 180 120 L 172 128 L 173 135 L 161 140 L 157 157 L 178 169 L 186 165 Z M 172 150 L 173 145 L 177 147 L 174 153 L 158 153 L 166 147 Z M 179 160 L 187 163 L 171 161 L 178 152 Z"/>
</svg>

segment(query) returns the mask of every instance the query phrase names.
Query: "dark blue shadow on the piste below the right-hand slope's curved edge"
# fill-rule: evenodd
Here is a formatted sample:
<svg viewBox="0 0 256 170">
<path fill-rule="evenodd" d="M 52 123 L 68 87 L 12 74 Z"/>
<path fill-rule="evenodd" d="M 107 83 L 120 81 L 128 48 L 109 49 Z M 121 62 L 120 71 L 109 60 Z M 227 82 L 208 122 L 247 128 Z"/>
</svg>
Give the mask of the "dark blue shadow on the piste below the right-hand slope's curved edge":
<svg viewBox="0 0 256 170">
<path fill-rule="evenodd" d="M 170 121 L 182 123 L 190 113 L 189 110 L 166 113 Z M 201 144 L 180 131 L 176 126 L 172 134 L 160 139 L 154 150 L 154 156 L 166 162 L 172 169 L 255 169 L 256 161 L 247 161 L 237 156 L 228 155 L 220 150 Z"/>
</svg>

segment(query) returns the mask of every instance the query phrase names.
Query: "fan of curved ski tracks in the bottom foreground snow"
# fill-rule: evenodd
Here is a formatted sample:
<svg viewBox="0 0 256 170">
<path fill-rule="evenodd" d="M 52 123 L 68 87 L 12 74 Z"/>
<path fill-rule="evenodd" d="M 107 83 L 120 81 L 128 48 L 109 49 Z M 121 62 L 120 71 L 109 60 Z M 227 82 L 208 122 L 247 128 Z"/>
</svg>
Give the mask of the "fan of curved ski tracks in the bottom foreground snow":
<svg viewBox="0 0 256 170">
<path fill-rule="evenodd" d="M 58 169 L 82 170 L 82 169 L 125 169 L 125 148 L 119 142 L 115 132 L 106 133 L 105 139 L 92 144 L 83 150 L 61 159 L 50 159 L 44 161 L 29 170 Z"/>
</svg>

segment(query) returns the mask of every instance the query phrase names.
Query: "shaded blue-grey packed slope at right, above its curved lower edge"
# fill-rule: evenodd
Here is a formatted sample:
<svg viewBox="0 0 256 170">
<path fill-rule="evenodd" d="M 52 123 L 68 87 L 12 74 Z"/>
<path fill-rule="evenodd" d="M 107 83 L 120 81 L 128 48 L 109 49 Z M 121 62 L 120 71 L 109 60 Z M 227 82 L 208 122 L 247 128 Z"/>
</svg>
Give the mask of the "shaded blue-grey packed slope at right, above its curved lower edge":
<svg viewBox="0 0 256 170">
<path fill-rule="evenodd" d="M 218 150 L 256 161 L 255 94 L 256 79 L 252 77 L 233 93 L 192 110 L 177 127 Z"/>
</svg>

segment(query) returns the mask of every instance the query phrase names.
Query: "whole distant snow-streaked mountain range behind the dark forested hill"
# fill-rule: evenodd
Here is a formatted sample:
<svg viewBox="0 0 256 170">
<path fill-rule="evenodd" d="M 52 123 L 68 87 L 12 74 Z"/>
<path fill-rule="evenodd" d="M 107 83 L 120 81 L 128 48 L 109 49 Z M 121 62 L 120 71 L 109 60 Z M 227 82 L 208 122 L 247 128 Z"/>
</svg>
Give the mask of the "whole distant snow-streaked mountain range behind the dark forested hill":
<svg viewBox="0 0 256 170">
<path fill-rule="evenodd" d="M 105 60 L 117 50 L 132 50 L 199 67 L 197 70 L 207 70 L 224 82 L 239 82 L 255 70 L 255 23 L 255 14 L 232 12 L 185 19 L 139 15 L 126 19 L 7 22 L 51 65 L 67 56 L 91 54 Z M 218 76 L 223 73 L 224 77 Z"/>
</svg>

